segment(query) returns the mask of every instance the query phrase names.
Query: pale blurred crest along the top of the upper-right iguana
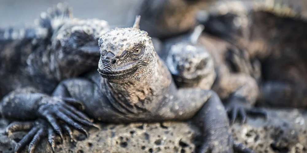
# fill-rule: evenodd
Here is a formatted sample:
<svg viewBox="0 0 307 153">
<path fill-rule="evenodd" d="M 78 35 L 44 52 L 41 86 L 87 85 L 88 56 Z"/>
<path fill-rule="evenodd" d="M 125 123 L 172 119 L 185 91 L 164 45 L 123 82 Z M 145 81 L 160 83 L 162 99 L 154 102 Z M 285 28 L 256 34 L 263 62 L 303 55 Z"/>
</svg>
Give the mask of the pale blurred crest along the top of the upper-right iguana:
<svg viewBox="0 0 307 153">
<path fill-rule="evenodd" d="M 305 0 L 228 0 L 212 5 L 210 13 L 235 13 L 247 15 L 251 11 L 266 11 L 280 17 L 307 20 L 307 1 Z"/>
</svg>

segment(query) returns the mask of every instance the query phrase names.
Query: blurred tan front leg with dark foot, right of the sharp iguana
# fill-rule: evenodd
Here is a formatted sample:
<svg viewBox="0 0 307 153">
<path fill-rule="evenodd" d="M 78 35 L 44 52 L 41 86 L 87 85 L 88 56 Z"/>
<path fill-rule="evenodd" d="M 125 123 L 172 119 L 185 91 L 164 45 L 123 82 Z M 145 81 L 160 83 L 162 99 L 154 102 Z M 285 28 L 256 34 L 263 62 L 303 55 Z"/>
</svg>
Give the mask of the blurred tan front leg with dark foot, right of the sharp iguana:
<svg viewBox="0 0 307 153">
<path fill-rule="evenodd" d="M 241 123 L 244 123 L 247 113 L 266 117 L 264 110 L 253 107 L 259 95 L 259 88 L 256 80 L 251 76 L 228 73 L 218 78 L 212 89 L 222 99 L 227 99 L 225 107 L 230 114 L 232 124 L 238 115 L 241 117 Z"/>
</svg>

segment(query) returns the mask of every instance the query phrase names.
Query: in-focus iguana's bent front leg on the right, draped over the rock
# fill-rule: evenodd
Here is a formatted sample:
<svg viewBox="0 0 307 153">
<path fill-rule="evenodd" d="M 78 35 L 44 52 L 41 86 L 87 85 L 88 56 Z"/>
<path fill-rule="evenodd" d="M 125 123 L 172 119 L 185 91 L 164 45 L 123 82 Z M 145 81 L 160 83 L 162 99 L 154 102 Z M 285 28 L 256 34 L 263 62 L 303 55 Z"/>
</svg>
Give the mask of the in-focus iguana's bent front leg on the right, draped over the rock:
<svg viewBox="0 0 307 153">
<path fill-rule="evenodd" d="M 161 107 L 164 120 L 193 118 L 203 132 L 203 145 L 198 152 L 253 152 L 232 138 L 227 113 L 216 92 L 196 88 L 179 89 L 177 96 Z"/>
</svg>

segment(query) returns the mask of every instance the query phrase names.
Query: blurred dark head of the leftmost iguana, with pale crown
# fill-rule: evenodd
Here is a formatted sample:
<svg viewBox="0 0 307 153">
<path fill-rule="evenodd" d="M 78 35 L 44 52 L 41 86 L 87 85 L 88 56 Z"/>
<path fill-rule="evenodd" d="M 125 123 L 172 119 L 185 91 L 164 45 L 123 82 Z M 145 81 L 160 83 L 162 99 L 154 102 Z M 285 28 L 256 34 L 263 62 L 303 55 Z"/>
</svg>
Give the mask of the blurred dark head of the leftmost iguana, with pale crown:
<svg viewBox="0 0 307 153">
<path fill-rule="evenodd" d="M 52 34 L 51 54 L 62 75 L 76 76 L 97 65 L 99 36 L 109 30 L 104 20 L 72 19 Z M 63 71 L 63 72 L 62 72 Z M 73 73 L 73 74 L 70 74 Z"/>
</svg>

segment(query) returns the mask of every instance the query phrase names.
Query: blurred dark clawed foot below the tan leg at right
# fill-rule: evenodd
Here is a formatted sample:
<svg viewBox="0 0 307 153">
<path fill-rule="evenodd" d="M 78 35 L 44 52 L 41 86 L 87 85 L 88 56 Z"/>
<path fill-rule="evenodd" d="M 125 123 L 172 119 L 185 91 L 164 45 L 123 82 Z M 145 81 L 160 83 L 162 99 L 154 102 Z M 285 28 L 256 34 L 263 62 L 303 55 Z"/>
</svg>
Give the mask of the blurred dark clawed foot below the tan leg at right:
<svg viewBox="0 0 307 153">
<path fill-rule="evenodd" d="M 233 125 L 238 116 L 241 118 L 241 124 L 246 122 L 247 114 L 252 114 L 256 116 L 262 116 L 267 118 L 267 112 L 262 109 L 250 108 L 246 106 L 247 104 L 242 102 L 230 102 L 225 108 L 229 114 L 230 124 Z"/>
</svg>

